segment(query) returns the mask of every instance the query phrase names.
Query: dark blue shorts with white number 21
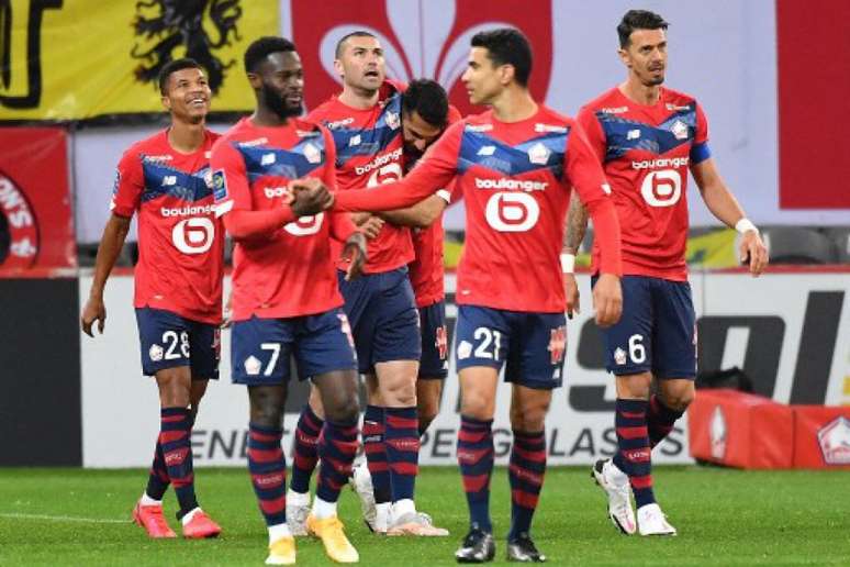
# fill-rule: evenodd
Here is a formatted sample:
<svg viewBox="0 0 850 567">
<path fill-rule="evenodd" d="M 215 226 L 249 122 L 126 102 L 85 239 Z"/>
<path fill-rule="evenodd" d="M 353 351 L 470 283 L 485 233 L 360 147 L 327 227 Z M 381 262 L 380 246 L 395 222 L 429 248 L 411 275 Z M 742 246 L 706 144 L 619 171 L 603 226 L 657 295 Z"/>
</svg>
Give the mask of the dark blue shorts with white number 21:
<svg viewBox="0 0 850 567">
<path fill-rule="evenodd" d="M 455 353 L 458 370 L 505 366 L 505 381 L 550 390 L 561 386 L 567 351 L 563 313 L 524 313 L 459 305 Z"/>
</svg>

